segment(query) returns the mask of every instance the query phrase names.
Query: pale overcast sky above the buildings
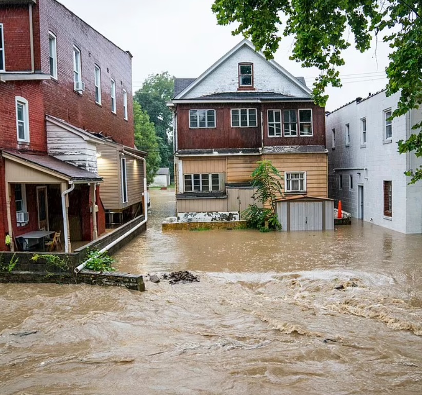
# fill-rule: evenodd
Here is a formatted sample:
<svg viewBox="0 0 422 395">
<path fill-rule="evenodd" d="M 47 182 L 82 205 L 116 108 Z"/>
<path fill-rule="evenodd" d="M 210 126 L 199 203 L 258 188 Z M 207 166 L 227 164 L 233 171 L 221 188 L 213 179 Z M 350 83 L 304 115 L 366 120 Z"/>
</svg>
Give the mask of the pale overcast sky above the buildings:
<svg viewBox="0 0 422 395">
<path fill-rule="evenodd" d="M 212 0 L 59 0 L 94 29 L 133 55 L 133 89 L 149 74 L 168 71 L 197 77 L 234 47 L 242 36 L 217 26 Z M 316 69 L 289 60 L 293 39 L 284 38 L 275 61 L 311 87 Z M 376 50 L 375 50 L 376 48 Z M 381 41 L 365 54 L 348 49 L 341 68 L 343 88 L 330 88 L 327 110 L 385 88 L 389 48 Z"/>
</svg>

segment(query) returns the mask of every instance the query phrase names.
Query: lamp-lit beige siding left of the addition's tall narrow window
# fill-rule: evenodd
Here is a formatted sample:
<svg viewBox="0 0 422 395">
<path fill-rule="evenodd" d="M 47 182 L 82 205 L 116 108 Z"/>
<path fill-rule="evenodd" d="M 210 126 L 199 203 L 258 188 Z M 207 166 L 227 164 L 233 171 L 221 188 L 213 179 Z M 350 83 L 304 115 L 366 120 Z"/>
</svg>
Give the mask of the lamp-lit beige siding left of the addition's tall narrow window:
<svg viewBox="0 0 422 395">
<path fill-rule="evenodd" d="M 122 208 L 122 192 L 120 186 L 120 159 L 117 149 L 104 144 L 98 147 L 101 157 L 98 158 L 98 175 L 104 182 L 100 185 L 100 196 L 106 210 Z"/>
</svg>

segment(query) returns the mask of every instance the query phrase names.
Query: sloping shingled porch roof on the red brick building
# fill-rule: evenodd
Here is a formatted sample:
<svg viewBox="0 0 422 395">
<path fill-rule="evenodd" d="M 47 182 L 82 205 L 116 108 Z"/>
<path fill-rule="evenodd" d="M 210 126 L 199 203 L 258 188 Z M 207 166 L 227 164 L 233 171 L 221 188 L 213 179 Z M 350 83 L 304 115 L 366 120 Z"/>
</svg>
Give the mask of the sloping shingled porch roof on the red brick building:
<svg viewBox="0 0 422 395">
<path fill-rule="evenodd" d="M 78 168 L 47 154 L 28 154 L 14 151 L 2 151 L 6 159 L 27 165 L 30 168 L 41 168 L 66 178 L 69 181 L 101 182 L 103 179 L 87 170 Z"/>
</svg>

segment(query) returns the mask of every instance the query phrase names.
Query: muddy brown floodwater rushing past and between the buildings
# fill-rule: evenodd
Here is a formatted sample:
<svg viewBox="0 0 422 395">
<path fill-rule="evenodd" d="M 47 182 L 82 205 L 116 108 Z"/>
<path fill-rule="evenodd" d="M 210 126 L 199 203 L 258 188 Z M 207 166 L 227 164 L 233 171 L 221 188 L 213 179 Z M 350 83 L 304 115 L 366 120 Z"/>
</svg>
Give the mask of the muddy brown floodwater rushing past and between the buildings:
<svg viewBox="0 0 422 395">
<path fill-rule="evenodd" d="M 116 267 L 200 282 L 0 284 L 0 394 L 422 393 L 421 235 L 163 233 L 151 201 Z"/>
</svg>

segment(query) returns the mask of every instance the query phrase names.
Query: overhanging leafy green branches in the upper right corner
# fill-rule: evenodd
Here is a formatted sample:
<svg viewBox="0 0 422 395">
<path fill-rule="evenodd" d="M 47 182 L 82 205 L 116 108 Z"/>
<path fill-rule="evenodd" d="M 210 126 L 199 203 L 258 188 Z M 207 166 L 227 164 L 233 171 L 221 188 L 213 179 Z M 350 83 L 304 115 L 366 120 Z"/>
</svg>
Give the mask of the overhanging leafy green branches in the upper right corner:
<svg viewBox="0 0 422 395">
<path fill-rule="evenodd" d="M 341 53 L 352 44 L 364 52 L 373 34 L 383 34 L 392 49 L 386 69 L 387 95 L 401 92 L 393 117 L 406 114 L 422 103 L 422 3 L 420 0 L 215 0 L 212 6 L 218 24 L 238 23 L 233 34 L 251 37 L 257 50 L 268 59 L 277 50 L 281 36 L 293 35 L 292 60 L 304 67 L 317 67 L 320 75 L 313 98 L 325 106 L 325 89 L 341 87 L 338 68 L 345 64 Z M 422 156 L 422 122 L 418 134 L 398 142 L 399 152 Z M 412 183 L 422 179 L 422 168 L 406 173 Z"/>
</svg>

